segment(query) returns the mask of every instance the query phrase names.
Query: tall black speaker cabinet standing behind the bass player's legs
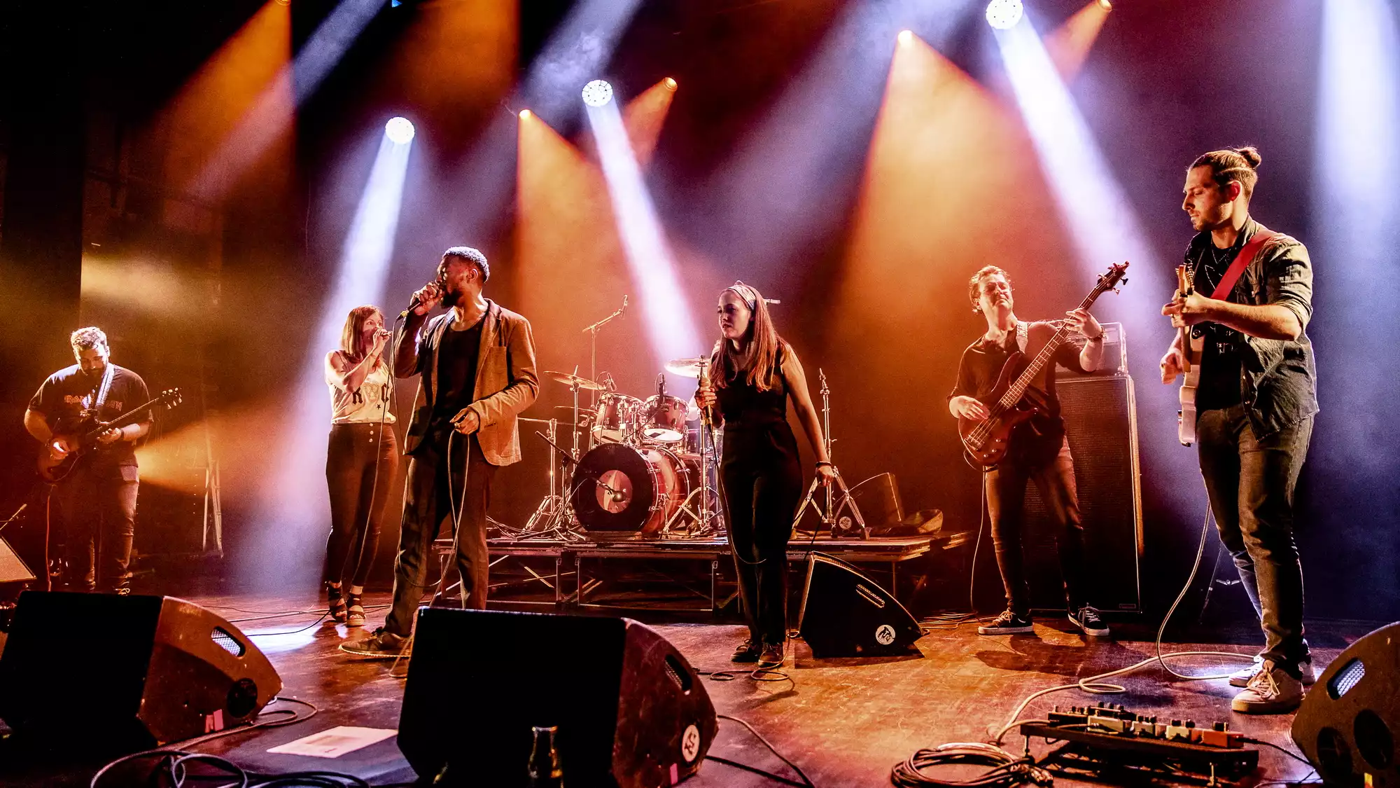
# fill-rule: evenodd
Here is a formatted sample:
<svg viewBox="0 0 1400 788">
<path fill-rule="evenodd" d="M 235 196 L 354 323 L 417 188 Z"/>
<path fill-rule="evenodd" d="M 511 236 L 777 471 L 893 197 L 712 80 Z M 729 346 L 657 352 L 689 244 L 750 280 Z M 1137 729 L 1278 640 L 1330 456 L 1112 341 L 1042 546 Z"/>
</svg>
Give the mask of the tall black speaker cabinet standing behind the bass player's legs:
<svg viewBox="0 0 1400 788">
<path fill-rule="evenodd" d="M 1141 611 L 1142 495 L 1133 379 L 1060 379 L 1056 390 L 1074 454 L 1088 602 L 1100 610 Z M 1039 609 L 1063 610 L 1054 524 L 1033 482 L 1026 485 L 1025 506 L 1030 602 Z"/>
</svg>

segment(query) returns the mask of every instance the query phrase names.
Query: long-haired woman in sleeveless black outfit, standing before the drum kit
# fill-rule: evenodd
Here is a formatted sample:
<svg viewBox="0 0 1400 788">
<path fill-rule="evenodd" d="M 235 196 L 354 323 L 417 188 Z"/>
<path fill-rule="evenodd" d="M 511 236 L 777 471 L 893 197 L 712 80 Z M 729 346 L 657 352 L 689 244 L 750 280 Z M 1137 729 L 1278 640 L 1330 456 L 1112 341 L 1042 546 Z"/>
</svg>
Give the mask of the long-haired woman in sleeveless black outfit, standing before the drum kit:
<svg viewBox="0 0 1400 788">
<path fill-rule="evenodd" d="M 816 454 L 823 484 L 836 478 L 822 425 L 792 348 L 778 337 L 763 296 L 743 282 L 720 294 L 720 332 L 696 401 L 724 423 L 720 460 L 725 524 L 749 618 L 735 662 L 780 665 L 787 641 L 787 543 L 802 498 L 797 437 L 787 423 L 792 398 Z"/>
</svg>

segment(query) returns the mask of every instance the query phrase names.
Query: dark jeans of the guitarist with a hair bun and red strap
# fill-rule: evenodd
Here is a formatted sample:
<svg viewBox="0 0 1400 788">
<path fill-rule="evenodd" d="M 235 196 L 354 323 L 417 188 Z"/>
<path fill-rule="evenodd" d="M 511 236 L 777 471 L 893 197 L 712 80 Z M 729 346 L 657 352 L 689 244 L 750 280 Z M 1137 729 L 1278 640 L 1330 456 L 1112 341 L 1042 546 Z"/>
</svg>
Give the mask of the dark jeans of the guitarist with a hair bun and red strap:
<svg viewBox="0 0 1400 788">
<path fill-rule="evenodd" d="M 1239 569 L 1264 630 L 1264 659 L 1309 659 L 1303 639 L 1303 569 L 1294 544 L 1294 487 L 1308 456 L 1312 416 L 1263 439 L 1243 405 L 1203 411 L 1197 451 L 1221 544 Z"/>
</svg>

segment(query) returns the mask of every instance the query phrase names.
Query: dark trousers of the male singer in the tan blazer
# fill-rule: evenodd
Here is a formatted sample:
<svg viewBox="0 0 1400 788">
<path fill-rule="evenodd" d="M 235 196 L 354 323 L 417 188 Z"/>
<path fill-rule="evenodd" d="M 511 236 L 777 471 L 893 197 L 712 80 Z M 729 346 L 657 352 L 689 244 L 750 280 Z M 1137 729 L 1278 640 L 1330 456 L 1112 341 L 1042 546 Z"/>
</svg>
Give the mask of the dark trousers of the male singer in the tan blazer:
<svg viewBox="0 0 1400 788">
<path fill-rule="evenodd" d="M 455 433 L 454 433 L 455 435 Z M 413 618 L 427 589 L 427 562 L 442 520 L 451 531 L 454 505 L 461 512 L 461 533 L 456 534 L 456 568 L 462 576 L 462 592 L 469 593 L 463 604 L 486 609 L 486 508 L 491 501 L 491 478 L 496 466 L 486 461 L 476 436 L 455 435 L 451 439 L 451 474 L 448 473 L 448 444 L 423 442 L 409 457 L 409 481 L 403 491 L 403 522 L 399 530 L 399 557 L 393 562 L 393 609 L 384 628 L 395 635 L 413 632 Z M 470 456 L 468 456 L 470 446 Z M 462 489 L 462 470 L 466 468 L 466 491 Z M 449 498 L 451 496 L 451 498 Z"/>
</svg>

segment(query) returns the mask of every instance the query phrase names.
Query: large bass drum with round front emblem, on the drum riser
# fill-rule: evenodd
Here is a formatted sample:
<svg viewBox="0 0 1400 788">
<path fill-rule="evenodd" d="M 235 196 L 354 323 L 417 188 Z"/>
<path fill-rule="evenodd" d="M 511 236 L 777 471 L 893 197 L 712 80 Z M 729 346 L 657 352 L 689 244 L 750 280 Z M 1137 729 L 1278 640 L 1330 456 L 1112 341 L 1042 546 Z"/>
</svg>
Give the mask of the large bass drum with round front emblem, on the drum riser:
<svg viewBox="0 0 1400 788">
<path fill-rule="evenodd" d="M 666 449 L 603 443 L 578 461 L 568 501 L 585 531 L 655 534 L 690 484 L 687 463 Z"/>
</svg>

